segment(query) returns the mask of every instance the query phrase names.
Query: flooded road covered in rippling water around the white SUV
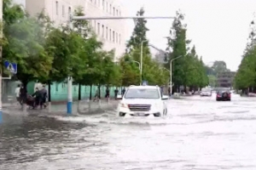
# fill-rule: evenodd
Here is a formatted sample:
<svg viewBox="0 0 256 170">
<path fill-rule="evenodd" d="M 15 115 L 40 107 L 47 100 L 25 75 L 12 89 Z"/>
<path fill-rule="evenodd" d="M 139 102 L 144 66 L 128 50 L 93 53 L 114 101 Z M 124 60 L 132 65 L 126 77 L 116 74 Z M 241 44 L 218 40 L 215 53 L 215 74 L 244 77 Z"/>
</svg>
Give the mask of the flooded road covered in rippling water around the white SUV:
<svg viewBox="0 0 256 170">
<path fill-rule="evenodd" d="M 9 117 L 1 170 L 255 170 L 256 99 L 168 101 L 166 118 Z"/>
</svg>

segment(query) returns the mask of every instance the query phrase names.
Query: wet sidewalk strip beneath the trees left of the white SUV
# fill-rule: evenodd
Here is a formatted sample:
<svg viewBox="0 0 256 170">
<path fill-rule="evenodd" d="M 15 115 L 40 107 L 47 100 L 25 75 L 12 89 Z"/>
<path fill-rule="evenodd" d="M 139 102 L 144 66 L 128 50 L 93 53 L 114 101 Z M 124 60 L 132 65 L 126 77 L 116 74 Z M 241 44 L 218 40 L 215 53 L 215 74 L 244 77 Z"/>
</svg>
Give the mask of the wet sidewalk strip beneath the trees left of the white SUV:
<svg viewBox="0 0 256 170">
<path fill-rule="evenodd" d="M 78 116 L 78 115 L 90 115 L 90 114 L 101 114 L 105 111 L 114 111 L 117 108 L 117 105 L 119 103 L 119 100 L 109 100 L 109 102 L 105 99 L 102 99 L 101 101 L 87 101 L 87 100 L 81 100 L 73 102 L 73 113 L 72 116 Z M 9 111 L 22 111 L 21 106 L 18 104 L 3 104 L 3 111 L 9 110 Z M 67 116 L 67 105 L 65 104 L 57 104 L 57 105 L 51 105 L 50 111 L 49 107 L 46 109 L 26 109 L 27 113 L 29 115 L 33 116 Z"/>
</svg>

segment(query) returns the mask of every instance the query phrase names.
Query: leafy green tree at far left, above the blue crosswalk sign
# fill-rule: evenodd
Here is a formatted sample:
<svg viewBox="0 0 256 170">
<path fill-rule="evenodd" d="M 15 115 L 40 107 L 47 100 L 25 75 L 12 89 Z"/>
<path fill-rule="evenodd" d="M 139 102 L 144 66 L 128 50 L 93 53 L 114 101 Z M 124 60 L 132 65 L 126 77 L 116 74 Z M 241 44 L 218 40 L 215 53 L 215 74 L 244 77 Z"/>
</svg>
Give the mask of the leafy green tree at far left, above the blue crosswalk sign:
<svg viewBox="0 0 256 170">
<path fill-rule="evenodd" d="M 3 2 L 3 59 L 18 64 L 17 78 L 27 82 L 48 77 L 52 56 L 44 50 L 44 27 L 35 17 L 27 16 L 19 5 Z"/>
</svg>

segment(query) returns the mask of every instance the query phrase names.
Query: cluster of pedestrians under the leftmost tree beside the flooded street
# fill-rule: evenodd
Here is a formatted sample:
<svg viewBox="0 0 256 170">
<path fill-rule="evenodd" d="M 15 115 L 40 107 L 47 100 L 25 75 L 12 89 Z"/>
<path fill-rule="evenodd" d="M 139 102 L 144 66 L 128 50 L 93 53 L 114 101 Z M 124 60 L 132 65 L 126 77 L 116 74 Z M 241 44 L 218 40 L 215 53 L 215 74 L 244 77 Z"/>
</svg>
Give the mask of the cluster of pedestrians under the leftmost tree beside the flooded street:
<svg viewBox="0 0 256 170">
<path fill-rule="evenodd" d="M 46 108 L 46 99 L 48 98 L 47 90 L 43 85 L 43 88 L 39 90 L 36 88 L 35 92 L 32 95 L 27 94 L 26 88 L 23 84 L 18 84 L 17 88 L 15 89 L 16 99 L 20 105 L 29 105 L 32 108 L 36 108 L 40 105 L 42 109 L 43 106 Z"/>
</svg>

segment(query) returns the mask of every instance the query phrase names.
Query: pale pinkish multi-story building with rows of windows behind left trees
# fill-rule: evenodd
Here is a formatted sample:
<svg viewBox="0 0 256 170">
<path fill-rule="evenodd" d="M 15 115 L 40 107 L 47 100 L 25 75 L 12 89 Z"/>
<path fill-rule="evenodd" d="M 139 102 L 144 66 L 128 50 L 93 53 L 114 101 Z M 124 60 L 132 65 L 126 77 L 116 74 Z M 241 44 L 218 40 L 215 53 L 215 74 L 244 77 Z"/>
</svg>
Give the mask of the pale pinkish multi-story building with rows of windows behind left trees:
<svg viewBox="0 0 256 170">
<path fill-rule="evenodd" d="M 30 14 L 44 11 L 55 26 L 67 24 L 70 14 L 79 6 L 84 8 L 88 17 L 121 16 L 125 13 L 120 0 L 26 0 L 26 10 Z M 90 25 L 103 42 L 103 49 L 115 50 L 115 60 L 125 53 L 125 20 L 90 20 Z"/>
</svg>

